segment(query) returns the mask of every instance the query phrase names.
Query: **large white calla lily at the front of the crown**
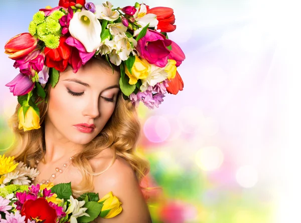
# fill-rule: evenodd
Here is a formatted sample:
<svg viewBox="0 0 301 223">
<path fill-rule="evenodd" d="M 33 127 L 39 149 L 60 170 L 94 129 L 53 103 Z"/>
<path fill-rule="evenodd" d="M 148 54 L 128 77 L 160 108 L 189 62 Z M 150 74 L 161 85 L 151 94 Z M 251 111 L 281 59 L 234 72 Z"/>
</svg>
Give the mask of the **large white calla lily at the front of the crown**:
<svg viewBox="0 0 301 223">
<path fill-rule="evenodd" d="M 70 20 L 69 32 L 80 41 L 88 53 L 101 45 L 101 25 L 96 16 L 88 10 L 77 12 Z"/>
</svg>

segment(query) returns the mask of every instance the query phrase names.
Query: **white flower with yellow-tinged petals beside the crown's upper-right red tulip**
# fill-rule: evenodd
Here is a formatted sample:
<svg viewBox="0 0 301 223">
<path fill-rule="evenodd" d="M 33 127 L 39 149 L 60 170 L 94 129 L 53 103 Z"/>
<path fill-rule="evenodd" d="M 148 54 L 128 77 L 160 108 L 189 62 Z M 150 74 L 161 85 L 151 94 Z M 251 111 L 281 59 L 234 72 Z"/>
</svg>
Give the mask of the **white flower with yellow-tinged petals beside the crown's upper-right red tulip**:
<svg viewBox="0 0 301 223">
<path fill-rule="evenodd" d="M 134 31 L 134 37 L 137 36 L 141 30 L 149 24 L 148 27 L 156 27 L 158 26 L 159 21 L 157 20 L 157 15 L 152 13 L 147 13 L 146 6 L 141 4 L 140 8 L 136 8 L 136 13 L 133 15 L 137 24 L 141 26 L 141 28 Z"/>
</svg>

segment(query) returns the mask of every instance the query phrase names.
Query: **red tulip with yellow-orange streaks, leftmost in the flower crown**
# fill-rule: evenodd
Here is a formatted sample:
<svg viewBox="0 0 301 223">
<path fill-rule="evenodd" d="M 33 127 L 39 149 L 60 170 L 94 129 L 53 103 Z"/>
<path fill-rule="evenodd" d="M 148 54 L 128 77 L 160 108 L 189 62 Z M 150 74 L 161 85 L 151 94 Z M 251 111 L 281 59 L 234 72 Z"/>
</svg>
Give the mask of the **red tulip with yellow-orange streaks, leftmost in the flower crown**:
<svg viewBox="0 0 301 223">
<path fill-rule="evenodd" d="M 9 58 L 18 59 L 32 52 L 38 44 L 37 38 L 30 33 L 22 33 L 11 38 L 4 46 L 5 53 L 10 54 Z"/>
</svg>

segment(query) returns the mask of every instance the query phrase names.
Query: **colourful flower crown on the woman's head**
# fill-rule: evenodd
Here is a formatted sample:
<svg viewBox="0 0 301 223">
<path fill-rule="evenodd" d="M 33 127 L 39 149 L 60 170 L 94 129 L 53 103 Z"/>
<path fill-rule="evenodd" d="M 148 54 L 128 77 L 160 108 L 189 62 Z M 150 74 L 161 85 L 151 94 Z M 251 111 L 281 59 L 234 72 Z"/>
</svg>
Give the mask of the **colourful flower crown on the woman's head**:
<svg viewBox="0 0 301 223">
<path fill-rule="evenodd" d="M 68 65 L 74 73 L 97 55 L 120 67 L 119 86 L 125 100 L 136 107 L 143 102 L 158 107 L 168 92 L 183 90 L 177 67 L 185 59 L 181 48 L 168 39 L 176 29 L 171 8 L 149 9 L 145 4 L 113 8 L 85 0 L 60 0 L 55 8 L 40 9 L 29 24 L 5 45 L 5 53 L 20 69 L 6 84 L 18 96 L 19 129 L 40 128 L 38 97 L 46 97 L 46 84 L 54 88 L 59 72 Z"/>
</svg>

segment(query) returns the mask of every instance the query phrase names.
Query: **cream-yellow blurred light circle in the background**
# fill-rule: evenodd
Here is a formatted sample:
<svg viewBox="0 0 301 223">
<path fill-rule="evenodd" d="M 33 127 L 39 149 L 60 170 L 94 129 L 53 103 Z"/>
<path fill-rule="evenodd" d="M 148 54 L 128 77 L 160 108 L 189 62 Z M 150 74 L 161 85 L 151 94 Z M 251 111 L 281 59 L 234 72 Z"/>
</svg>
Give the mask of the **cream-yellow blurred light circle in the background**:
<svg viewBox="0 0 301 223">
<path fill-rule="evenodd" d="M 196 153 L 196 163 L 205 171 L 211 171 L 219 168 L 223 161 L 224 155 L 216 146 L 203 147 Z"/>
</svg>

